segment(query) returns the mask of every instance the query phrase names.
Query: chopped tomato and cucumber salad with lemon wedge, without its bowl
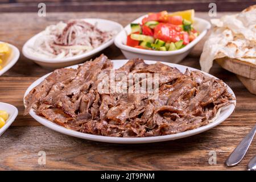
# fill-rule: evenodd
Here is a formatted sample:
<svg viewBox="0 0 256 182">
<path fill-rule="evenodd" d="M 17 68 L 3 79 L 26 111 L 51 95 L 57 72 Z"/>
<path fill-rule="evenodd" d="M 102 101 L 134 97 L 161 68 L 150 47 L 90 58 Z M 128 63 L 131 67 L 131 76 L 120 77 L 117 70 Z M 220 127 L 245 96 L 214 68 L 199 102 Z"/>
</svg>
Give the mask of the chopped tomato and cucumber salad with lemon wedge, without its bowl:
<svg viewBox="0 0 256 182">
<path fill-rule="evenodd" d="M 194 10 L 148 14 L 142 23 L 131 23 L 127 46 L 156 51 L 175 51 L 185 47 L 199 35 L 193 28 Z"/>
</svg>

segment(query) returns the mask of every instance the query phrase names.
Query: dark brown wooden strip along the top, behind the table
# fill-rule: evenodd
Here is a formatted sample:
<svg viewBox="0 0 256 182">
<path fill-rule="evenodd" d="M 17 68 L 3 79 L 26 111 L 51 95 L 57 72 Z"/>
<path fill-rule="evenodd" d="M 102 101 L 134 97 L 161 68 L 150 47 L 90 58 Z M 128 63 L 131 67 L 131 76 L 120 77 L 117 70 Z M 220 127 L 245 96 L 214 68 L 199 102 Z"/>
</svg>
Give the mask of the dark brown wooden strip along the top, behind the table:
<svg viewBox="0 0 256 182">
<path fill-rule="evenodd" d="M 209 11 L 212 2 L 216 3 L 217 11 L 242 11 L 256 3 L 255 0 L 0 0 L 0 12 L 35 12 L 40 2 L 46 3 L 48 12 L 151 12 L 162 11 L 163 7 L 168 11 Z"/>
</svg>

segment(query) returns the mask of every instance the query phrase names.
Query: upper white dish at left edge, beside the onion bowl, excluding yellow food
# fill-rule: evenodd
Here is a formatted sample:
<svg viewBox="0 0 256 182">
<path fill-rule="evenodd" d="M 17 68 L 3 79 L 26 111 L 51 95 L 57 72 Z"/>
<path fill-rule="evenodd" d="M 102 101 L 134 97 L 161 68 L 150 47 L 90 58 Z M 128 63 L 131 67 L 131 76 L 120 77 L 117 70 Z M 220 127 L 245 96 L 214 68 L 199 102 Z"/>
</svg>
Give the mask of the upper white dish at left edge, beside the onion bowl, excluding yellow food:
<svg viewBox="0 0 256 182">
<path fill-rule="evenodd" d="M 4 43 L 4 42 L 0 42 Z M 0 76 L 3 75 L 3 73 L 7 72 L 13 65 L 18 61 L 19 59 L 19 49 L 15 46 L 7 43 L 8 46 L 11 48 L 11 54 L 8 57 L 8 59 L 5 61 L 5 63 L 2 64 L 2 69 L 0 69 Z"/>
</svg>

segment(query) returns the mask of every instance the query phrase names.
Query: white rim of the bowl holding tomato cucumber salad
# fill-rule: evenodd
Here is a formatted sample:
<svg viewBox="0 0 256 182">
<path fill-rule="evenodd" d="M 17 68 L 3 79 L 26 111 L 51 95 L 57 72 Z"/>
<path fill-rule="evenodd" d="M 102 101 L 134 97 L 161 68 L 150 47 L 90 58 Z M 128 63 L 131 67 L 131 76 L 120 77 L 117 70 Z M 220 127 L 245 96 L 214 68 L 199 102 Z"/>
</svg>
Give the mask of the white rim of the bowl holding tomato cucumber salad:
<svg viewBox="0 0 256 182">
<path fill-rule="evenodd" d="M 141 23 L 141 20 L 145 16 L 147 16 L 147 14 L 139 17 L 138 19 L 135 19 L 131 23 Z M 195 17 L 195 22 L 205 23 L 205 24 L 207 24 L 207 26 L 205 27 L 204 31 L 200 32 L 199 36 L 197 36 L 197 38 L 195 40 L 193 40 L 187 46 L 185 46 L 181 49 L 178 49 L 176 51 L 154 51 L 154 50 L 139 49 L 139 48 L 135 48 L 135 47 L 126 46 L 125 44 L 122 43 L 123 39 L 125 39 L 124 37 L 122 37 L 122 34 L 123 34 L 123 32 L 125 32 L 125 34 L 126 34 L 127 29 L 129 29 L 129 27 L 130 27 L 130 24 L 128 24 L 125 28 L 123 28 L 122 31 L 119 32 L 119 34 L 117 36 L 115 36 L 114 44 L 118 48 L 123 49 L 125 51 L 135 52 L 135 53 L 142 53 L 144 55 L 154 55 L 154 56 L 177 55 L 177 54 L 180 54 L 180 53 L 184 53 L 184 52 L 188 51 L 189 49 L 191 49 L 192 47 L 194 47 L 201 39 L 203 39 L 203 37 L 207 34 L 207 31 L 211 27 L 210 23 L 205 19 Z"/>
</svg>

